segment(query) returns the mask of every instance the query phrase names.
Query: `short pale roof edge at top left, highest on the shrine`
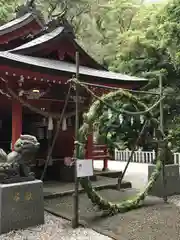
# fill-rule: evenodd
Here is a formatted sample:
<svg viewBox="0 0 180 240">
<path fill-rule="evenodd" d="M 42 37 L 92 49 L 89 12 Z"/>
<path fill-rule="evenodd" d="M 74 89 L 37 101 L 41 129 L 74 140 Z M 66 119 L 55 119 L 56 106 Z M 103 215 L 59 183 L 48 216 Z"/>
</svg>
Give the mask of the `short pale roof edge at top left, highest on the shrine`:
<svg viewBox="0 0 180 240">
<path fill-rule="evenodd" d="M 26 13 L 24 16 L 16 18 L 16 19 L 0 26 L 0 36 L 27 25 L 35 18 L 36 18 L 35 14 Z"/>
</svg>

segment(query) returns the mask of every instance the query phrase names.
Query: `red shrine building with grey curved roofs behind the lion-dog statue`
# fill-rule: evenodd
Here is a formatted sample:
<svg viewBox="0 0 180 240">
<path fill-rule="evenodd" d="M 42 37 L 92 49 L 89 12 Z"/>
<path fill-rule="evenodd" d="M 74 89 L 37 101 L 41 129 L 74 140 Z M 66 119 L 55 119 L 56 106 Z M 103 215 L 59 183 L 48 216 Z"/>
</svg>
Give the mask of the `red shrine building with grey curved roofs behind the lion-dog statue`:
<svg viewBox="0 0 180 240">
<path fill-rule="evenodd" d="M 81 48 L 66 23 L 45 25 L 34 9 L 17 16 L 0 27 L 0 147 L 10 151 L 20 134 L 32 134 L 41 143 L 38 159 L 45 161 L 52 140 L 47 130 L 51 130 L 52 136 L 56 131 L 69 88 L 67 82 L 76 74 L 76 52 L 79 52 L 80 80 L 92 83 L 91 90 L 99 95 L 104 88 L 96 87 L 97 84 L 137 89 L 147 80 L 108 71 Z M 83 113 L 91 101 L 83 89 L 79 101 Z M 47 118 L 38 114 L 37 109 L 57 117 Z M 53 161 L 57 163 L 73 156 L 74 126 L 75 92 L 72 90 L 51 165 Z"/>
</svg>

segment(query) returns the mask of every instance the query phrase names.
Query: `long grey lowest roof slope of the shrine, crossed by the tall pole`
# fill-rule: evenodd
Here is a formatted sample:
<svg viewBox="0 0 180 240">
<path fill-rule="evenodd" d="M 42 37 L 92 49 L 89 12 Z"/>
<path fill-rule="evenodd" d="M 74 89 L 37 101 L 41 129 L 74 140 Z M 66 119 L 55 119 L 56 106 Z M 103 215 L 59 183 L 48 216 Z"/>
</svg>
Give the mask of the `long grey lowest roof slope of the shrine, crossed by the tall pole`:
<svg viewBox="0 0 180 240">
<path fill-rule="evenodd" d="M 51 60 L 46 58 L 31 57 L 25 55 L 13 54 L 10 52 L 0 52 L 0 60 L 3 65 L 8 64 L 9 66 L 15 66 L 17 68 L 36 69 L 38 72 L 48 72 L 48 74 L 54 75 L 67 75 L 69 78 L 76 73 L 76 65 L 64 61 Z M 80 76 L 93 77 L 101 80 L 115 80 L 115 81 L 126 81 L 143 83 L 148 82 L 145 78 L 138 78 L 129 76 L 121 73 L 115 73 L 111 71 L 97 70 L 85 66 L 79 67 Z"/>
</svg>

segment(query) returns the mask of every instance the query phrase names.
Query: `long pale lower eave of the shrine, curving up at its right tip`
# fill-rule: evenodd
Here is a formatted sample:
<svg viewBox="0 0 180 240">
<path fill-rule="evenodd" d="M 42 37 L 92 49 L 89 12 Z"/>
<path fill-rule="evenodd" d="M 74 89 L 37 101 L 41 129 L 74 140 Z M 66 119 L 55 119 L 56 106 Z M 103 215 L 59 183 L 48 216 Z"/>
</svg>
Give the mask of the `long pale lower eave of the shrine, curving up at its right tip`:
<svg viewBox="0 0 180 240">
<path fill-rule="evenodd" d="M 19 57 L 19 59 L 18 59 L 18 57 Z M 68 65 L 69 63 L 67 63 L 67 65 L 65 66 L 65 64 L 66 64 L 65 62 L 62 62 L 64 64 L 64 66 L 62 66 L 61 62 L 59 62 L 59 61 L 53 61 L 53 60 L 46 59 L 45 63 L 42 62 L 41 64 L 39 64 L 40 61 L 41 60 L 43 61 L 44 59 L 33 58 L 33 57 L 28 57 L 28 56 L 21 56 L 21 55 L 12 54 L 12 53 L 6 54 L 4 52 L 0 53 L 0 58 L 2 60 L 1 61 L 2 64 L 4 62 L 5 65 L 11 65 L 12 67 L 15 67 L 15 68 L 23 67 L 25 69 L 31 69 L 32 71 L 34 69 L 36 72 L 42 71 L 44 73 L 53 74 L 56 76 L 59 76 L 59 73 L 61 73 L 63 76 L 68 76 L 69 78 L 71 78 L 73 75 L 75 75 L 74 65 Z M 21 60 L 20 60 L 20 58 L 21 58 Z M 38 62 L 38 65 L 36 64 L 36 62 Z M 52 67 L 51 65 L 55 65 L 55 67 Z M 59 68 L 59 66 L 61 66 L 61 69 Z M 68 70 L 68 67 L 69 67 L 69 70 Z M 125 77 L 124 77 L 124 79 L 121 79 L 120 76 L 117 79 L 117 77 L 113 78 L 113 75 L 112 75 L 112 77 L 107 76 L 107 74 L 109 74 L 109 72 L 106 72 L 106 71 L 102 72 L 102 70 L 97 70 L 98 72 L 100 71 L 99 72 L 100 75 L 97 75 L 97 72 L 96 71 L 93 72 L 93 71 L 95 71 L 95 69 L 84 68 L 82 66 L 82 70 L 80 68 L 80 76 L 82 78 L 89 79 L 90 81 L 100 80 L 100 81 L 104 81 L 104 82 L 108 82 L 108 83 L 116 83 L 116 84 L 125 83 L 125 84 L 145 85 L 148 82 L 147 79 L 137 78 L 137 77 L 133 78 L 133 77 L 127 76 L 127 75 L 124 75 L 124 76 L 129 79 L 125 79 Z M 101 72 L 102 72 L 102 75 L 101 75 Z M 106 77 L 103 76 L 103 74 L 106 75 Z"/>
</svg>

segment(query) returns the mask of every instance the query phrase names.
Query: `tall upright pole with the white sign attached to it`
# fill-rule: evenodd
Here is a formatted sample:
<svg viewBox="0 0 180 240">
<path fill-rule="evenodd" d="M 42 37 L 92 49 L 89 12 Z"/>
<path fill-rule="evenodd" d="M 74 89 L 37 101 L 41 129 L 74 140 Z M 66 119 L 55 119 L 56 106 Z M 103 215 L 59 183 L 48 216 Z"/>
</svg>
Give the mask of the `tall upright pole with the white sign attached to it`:
<svg viewBox="0 0 180 240">
<path fill-rule="evenodd" d="M 79 52 L 76 52 L 76 79 L 79 79 Z M 72 218 L 72 227 L 79 226 L 79 179 L 77 177 L 77 159 L 79 158 L 79 144 L 78 143 L 78 129 L 79 129 L 79 86 L 76 84 L 76 124 L 75 124 L 75 186 L 74 186 L 74 212 Z"/>
</svg>

